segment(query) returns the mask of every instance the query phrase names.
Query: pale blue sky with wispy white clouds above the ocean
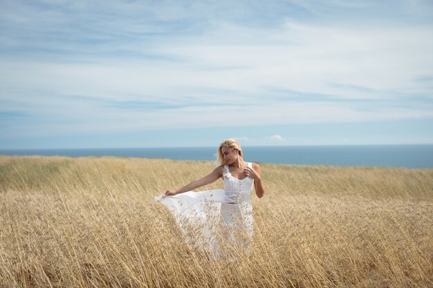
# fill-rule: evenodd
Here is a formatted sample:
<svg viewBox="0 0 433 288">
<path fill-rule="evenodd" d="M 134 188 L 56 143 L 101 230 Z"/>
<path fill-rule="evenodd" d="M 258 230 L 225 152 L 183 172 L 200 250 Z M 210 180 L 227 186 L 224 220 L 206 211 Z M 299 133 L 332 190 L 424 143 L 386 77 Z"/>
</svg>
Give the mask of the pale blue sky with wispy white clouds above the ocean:
<svg viewBox="0 0 433 288">
<path fill-rule="evenodd" d="M 433 2 L 0 0 L 0 149 L 433 144 Z"/>
</svg>

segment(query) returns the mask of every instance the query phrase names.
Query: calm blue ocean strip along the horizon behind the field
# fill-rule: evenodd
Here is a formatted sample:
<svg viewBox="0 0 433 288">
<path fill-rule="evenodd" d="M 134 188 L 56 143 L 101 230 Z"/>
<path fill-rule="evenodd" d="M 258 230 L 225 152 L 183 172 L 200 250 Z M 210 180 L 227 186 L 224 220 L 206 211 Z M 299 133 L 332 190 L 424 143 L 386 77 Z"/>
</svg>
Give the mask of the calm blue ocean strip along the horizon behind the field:
<svg viewBox="0 0 433 288">
<path fill-rule="evenodd" d="M 242 149 L 244 160 L 259 163 L 433 168 L 433 144 L 243 146 Z M 215 160 L 215 153 L 216 147 L 0 150 L 1 155 L 116 156 L 176 160 Z"/>
</svg>

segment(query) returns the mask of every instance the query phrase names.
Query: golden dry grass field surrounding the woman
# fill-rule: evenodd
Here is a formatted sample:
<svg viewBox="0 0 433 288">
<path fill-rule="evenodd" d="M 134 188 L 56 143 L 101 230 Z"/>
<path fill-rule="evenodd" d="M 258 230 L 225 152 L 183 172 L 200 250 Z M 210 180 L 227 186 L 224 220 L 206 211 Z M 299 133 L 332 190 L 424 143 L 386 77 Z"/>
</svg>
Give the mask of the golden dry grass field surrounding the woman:
<svg viewBox="0 0 433 288">
<path fill-rule="evenodd" d="M 212 262 L 152 200 L 214 166 L 0 155 L 0 287 L 433 287 L 433 169 L 261 164 L 252 253 Z"/>
</svg>

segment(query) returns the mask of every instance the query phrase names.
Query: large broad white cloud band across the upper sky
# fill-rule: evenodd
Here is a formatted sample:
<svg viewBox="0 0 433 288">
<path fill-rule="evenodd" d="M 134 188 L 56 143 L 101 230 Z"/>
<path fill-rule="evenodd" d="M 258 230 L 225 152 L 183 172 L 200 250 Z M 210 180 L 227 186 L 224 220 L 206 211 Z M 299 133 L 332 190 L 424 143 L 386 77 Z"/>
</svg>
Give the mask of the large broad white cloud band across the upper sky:
<svg viewBox="0 0 433 288">
<path fill-rule="evenodd" d="M 432 75 L 432 31 L 293 22 L 258 31 L 221 26 L 203 37 L 177 39 L 176 46 L 156 40 L 149 50 L 185 61 L 95 57 L 90 63 L 52 63 L 3 59 L 0 84 L 118 99 L 128 99 L 129 95 L 140 95 L 138 99 L 142 95 L 154 99 L 194 95 L 199 102 L 207 102 L 208 97 L 196 93 L 197 88 L 231 90 L 241 102 L 248 101 L 250 95 L 266 96 L 269 88 L 341 99 L 395 99 L 396 91 L 433 95 L 430 83 L 416 81 Z M 250 44 L 237 44 L 239 37 Z M 179 89 L 183 95 L 178 94 Z M 228 100 L 224 95 L 219 97 L 222 102 Z"/>
</svg>

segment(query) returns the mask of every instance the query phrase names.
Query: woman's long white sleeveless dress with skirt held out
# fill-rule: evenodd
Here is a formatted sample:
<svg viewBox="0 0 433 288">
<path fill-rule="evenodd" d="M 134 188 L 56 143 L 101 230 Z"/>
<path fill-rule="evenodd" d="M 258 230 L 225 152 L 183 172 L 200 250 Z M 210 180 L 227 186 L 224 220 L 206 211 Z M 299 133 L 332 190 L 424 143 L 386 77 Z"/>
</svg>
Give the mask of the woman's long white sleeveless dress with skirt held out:
<svg viewBox="0 0 433 288">
<path fill-rule="evenodd" d="M 252 168 L 251 162 L 248 167 Z M 189 244 L 219 259 L 237 255 L 240 250 L 250 252 L 253 184 L 250 177 L 233 177 L 225 165 L 224 190 L 189 191 L 165 198 L 160 195 L 154 201 L 172 212 Z"/>
</svg>

